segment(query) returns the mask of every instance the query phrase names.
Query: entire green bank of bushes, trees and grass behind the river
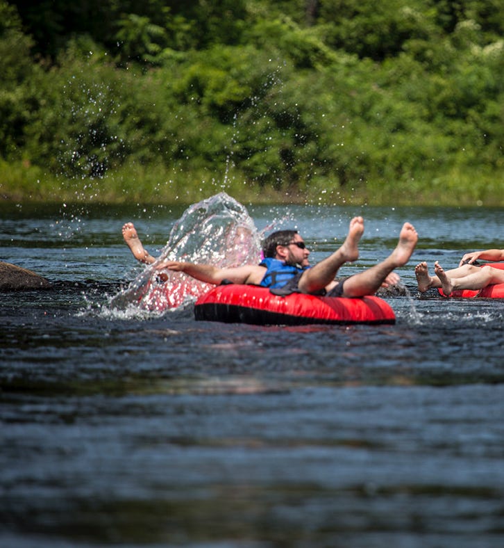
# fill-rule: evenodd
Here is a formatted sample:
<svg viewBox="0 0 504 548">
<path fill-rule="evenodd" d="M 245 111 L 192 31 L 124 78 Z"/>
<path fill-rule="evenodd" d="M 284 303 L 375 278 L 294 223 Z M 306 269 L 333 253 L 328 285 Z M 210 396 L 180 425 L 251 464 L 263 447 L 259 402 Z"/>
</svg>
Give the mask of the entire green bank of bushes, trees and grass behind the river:
<svg viewBox="0 0 504 548">
<path fill-rule="evenodd" d="M 0 206 L 504 207 L 503 12 L 0 0 Z"/>
</svg>

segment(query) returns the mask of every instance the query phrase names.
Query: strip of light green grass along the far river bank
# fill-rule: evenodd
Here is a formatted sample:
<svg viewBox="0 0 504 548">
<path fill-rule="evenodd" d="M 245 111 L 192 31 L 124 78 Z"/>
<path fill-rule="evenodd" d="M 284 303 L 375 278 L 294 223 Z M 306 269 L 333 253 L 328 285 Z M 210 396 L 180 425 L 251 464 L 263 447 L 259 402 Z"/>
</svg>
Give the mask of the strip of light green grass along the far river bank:
<svg viewBox="0 0 504 548">
<path fill-rule="evenodd" d="M 489 179 L 478 177 L 475 170 L 467 184 L 444 182 L 442 178 L 399 184 L 378 182 L 358 188 L 339 188 L 326 183 L 320 191 L 311 188 L 261 187 L 255 183 L 233 181 L 217 182 L 214 178 L 187 180 L 159 184 L 156 177 L 144 175 L 140 178 L 121 175 L 106 175 L 101 179 L 88 179 L 86 182 L 62 180 L 42 172 L 37 175 L 12 175 L 15 166 L 0 168 L 0 206 L 6 204 L 44 204 L 47 202 L 67 204 L 143 204 L 164 205 L 183 204 L 189 206 L 209 198 L 221 191 L 232 195 L 240 202 L 251 205 L 263 204 L 320 204 L 348 206 L 439 206 L 439 207 L 504 207 L 504 182 L 495 174 Z M 33 172 L 32 172 L 33 173 Z M 477 184 L 472 181 L 478 177 Z M 468 177 L 470 179 L 470 177 Z M 164 180 L 164 179 L 163 179 Z"/>
</svg>

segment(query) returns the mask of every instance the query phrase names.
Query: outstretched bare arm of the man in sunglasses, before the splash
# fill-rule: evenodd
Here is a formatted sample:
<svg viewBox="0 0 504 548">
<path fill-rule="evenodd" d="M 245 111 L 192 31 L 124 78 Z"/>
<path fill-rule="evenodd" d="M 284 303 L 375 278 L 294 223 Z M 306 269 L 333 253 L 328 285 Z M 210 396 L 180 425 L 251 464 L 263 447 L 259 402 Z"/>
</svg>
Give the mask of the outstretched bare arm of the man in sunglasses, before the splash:
<svg viewBox="0 0 504 548">
<path fill-rule="evenodd" d="M 183 272 L 208 284 L 219 285 L 223 280 L 233 284 L 259 284 L 266 272 L 264 266 L 245 265 L 236 268 L 217 268 L 211 264 L 186 263 L 181 261 L 162 261 L 156 270 Z"/>
</svg>

